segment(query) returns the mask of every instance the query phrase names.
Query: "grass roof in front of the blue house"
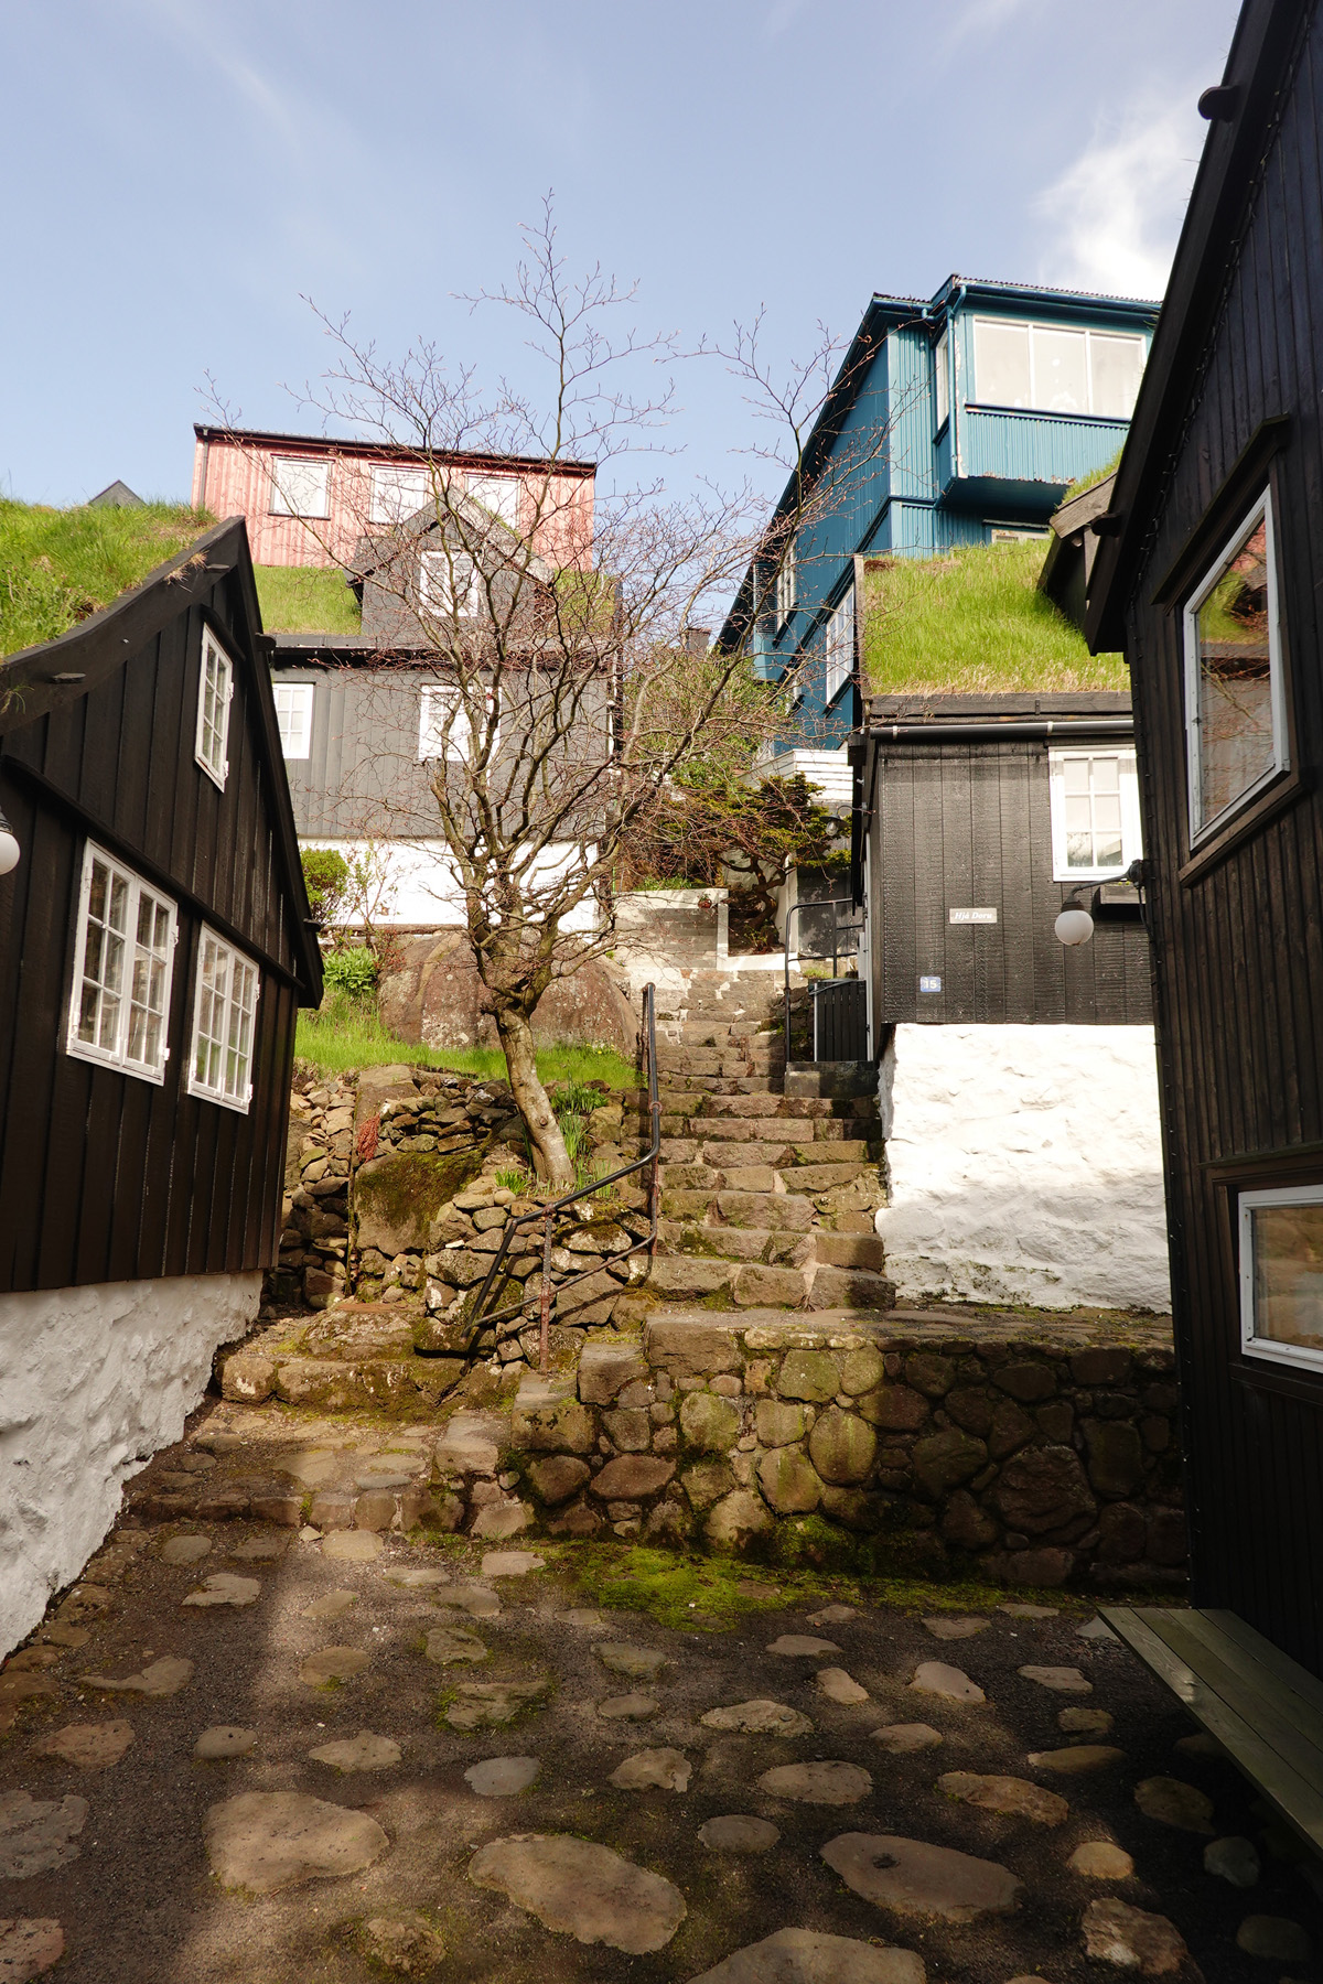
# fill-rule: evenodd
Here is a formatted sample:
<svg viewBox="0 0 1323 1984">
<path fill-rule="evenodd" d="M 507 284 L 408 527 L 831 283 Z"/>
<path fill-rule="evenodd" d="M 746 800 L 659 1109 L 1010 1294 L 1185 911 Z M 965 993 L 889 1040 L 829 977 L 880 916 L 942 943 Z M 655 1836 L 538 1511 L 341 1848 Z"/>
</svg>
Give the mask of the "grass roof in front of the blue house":
<svg viewBox="0 0 1323 1984">
<path fill-rule="evenodd" d="M 1129 688 L 1037 589 L 1045 538 L 865 565 L 863 682 L 875 696 Z"/>
</svg>

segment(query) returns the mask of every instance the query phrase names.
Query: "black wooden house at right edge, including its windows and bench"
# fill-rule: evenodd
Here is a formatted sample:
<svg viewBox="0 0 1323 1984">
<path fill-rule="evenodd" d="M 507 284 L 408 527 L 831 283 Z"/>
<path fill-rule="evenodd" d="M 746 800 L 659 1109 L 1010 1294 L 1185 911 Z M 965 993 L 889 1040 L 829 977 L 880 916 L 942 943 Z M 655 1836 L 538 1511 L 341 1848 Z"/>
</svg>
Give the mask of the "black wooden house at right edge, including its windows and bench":
<svg viewBox="0 0 1323 1984">
<path fill-rule="evenodd" d="M 1248 0 L 1087 633 L 1131 663 L 1190 1613 L 1127 1637 L 1323 1845 L 1323 10 Z"/>
</svg>

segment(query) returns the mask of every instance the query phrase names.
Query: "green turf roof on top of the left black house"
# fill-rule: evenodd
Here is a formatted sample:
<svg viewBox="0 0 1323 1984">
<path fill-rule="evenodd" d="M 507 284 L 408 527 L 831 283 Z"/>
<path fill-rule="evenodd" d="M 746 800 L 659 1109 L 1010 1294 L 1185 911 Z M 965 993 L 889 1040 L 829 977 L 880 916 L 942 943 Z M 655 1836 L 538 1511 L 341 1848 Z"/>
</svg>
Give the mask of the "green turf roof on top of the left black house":
<svg viewBox="0 0 1323 1984">
<path fill-rule="evenodd" d="M 0 498 L 0 655 L 56 641 L 214 524 L 188 504 L 52 510 Z"/>
</svg>

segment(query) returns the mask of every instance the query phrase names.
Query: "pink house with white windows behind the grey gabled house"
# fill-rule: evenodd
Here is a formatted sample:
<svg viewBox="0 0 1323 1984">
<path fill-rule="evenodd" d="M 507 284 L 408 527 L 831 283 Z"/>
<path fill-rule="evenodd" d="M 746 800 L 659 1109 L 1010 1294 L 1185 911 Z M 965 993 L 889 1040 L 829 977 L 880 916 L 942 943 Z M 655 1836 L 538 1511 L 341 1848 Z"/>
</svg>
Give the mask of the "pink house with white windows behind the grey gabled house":
<svg viewBox="0 0 1323 1984">
<path fill-rule="evenodd" d="M 194 427 L 192 504 L 242 516 L 254 565 L 351 565 L 361 538 L 432 500 L 432 472 L 462 476 L 466 492 L 532 538 L 547 563 L 591 565 L 591 462 L 520 454 L 428 456 L 419 448 Z"/>
</svg>

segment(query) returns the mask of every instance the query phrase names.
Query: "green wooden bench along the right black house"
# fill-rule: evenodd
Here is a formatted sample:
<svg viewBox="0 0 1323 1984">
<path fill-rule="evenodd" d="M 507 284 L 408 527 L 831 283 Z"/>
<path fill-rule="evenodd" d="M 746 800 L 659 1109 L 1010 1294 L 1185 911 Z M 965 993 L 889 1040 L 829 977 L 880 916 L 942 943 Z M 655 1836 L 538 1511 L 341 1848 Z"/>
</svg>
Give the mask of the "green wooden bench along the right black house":
<svg viewBox="0 0 1323 1984">
<path fill-rule="evenodd" d="M 1323 1680 L 1236 1613 L 1107 1605 L 1103 1619 L 1323 1853 Z"/>
</svg>

